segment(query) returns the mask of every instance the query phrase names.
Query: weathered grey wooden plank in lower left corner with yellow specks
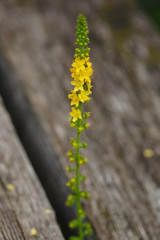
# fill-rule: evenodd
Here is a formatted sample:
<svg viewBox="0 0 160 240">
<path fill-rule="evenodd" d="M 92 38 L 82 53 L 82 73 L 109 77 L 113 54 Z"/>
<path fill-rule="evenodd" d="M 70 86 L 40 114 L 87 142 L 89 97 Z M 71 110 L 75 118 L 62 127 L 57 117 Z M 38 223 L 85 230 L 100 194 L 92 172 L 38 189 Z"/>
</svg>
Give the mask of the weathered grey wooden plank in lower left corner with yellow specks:
<svg viewBox="0 0 160 240">
<path fill-rule="evenodd" d="M 0 239 L 64 239 L 1 101 L 0 116 Z"/>
</svg>

